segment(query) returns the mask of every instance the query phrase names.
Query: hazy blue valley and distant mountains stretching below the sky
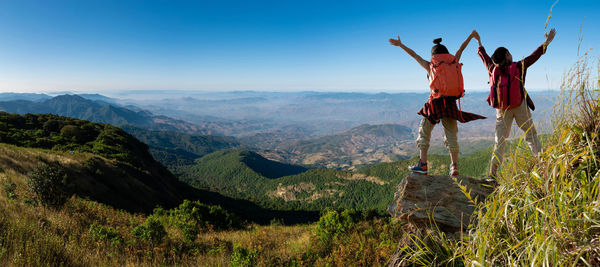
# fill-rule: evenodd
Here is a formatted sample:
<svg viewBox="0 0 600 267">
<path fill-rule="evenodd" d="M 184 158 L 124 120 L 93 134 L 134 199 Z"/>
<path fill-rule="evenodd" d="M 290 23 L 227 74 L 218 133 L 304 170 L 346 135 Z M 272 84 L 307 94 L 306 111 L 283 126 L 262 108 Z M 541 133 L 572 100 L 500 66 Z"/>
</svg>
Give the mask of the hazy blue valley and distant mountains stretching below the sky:
<svg viewBox="0 0 600 267">
<path fill-rule="evenodd" d="M 468 92 L 461 100 L 463 110 L 488 117 L 460 124 L 461 154 L 492 144 L 495 111 L 485 102 L 486 96 Z M 532 93 L 540 132 L 550 129 L 548 115 L 556 96 L 554 92 Z M 356 169 L 415 155 L 421 118 L 416 113 L 427 97 L 424 93 L 253 91 L 124 91 L 110 97 L 4 93 L 0 94 L 0 110 L 130 125 L 125 129 L 149 143 L 156 158 L 182 164 L 221 149 L 246 148 L 280 162 Z M 142 136 L 141 131 L 132 132 L 134 128 L 147 132 Z M 188 144 L 165 149 L 165 135 L 179 135 Z M 442 142 L 443 131 L 436 127 L 432 153 L 446 153 Z"/>
</svg>

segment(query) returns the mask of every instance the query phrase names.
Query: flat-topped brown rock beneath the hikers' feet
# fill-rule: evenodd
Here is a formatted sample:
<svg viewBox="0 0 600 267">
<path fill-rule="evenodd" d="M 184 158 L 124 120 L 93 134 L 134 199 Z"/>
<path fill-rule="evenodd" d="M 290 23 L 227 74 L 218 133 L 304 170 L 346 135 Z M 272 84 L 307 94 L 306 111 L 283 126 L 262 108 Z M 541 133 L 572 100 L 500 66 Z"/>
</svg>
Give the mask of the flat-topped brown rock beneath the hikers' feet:
<svg viewBox="0 0 600 267">
<path fill-rule="evenodd" d="M 458 176 L 456 181 L 471 191 L 473 200 L 482 201 L 493 191 L 493 187 L 471 177 Z M 474 210 L 452 177 L 419 174 L 409 174 L 398 185 L 394 202 L 388 207 L 393 217 L 416 225 L 435 222 L 444 232 L 466 229 Z"/>
</svg>

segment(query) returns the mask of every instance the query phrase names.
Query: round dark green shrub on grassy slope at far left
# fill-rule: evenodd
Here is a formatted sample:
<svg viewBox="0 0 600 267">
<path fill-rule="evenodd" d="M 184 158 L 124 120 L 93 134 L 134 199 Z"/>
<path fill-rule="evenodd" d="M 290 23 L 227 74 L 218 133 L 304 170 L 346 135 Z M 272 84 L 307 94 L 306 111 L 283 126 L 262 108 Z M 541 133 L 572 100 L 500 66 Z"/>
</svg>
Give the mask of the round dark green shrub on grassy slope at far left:
<svg viewBox="0 0 600 267">
<path fill-rule="evenodd" d="M 28 177 L 27 186 L 44 206 L 60 208 L 71 196 L 68 176 L 62 167 L 37 167 Z"/>
</svg>

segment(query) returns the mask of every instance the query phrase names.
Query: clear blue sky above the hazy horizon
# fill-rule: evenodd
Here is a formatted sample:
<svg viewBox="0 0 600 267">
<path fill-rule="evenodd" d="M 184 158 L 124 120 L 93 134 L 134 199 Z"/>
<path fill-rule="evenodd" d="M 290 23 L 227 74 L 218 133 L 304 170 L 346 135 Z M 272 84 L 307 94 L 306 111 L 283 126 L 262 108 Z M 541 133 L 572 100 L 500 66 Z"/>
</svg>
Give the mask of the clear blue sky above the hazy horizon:
<svg viewBox="0 0 600 267">
<path fill-rule="evenodd" d="M 425 72 L 388 39 L 429 57 L 472 29 L 515 59 L 544 40 L 554 1 L 0 1 L 0 91 L 130 89 L 426 91 Z M 600 1 L 558 2 L 557 36 L 528 72 L 557 88 L 583 49 L 600 44 Z M 585 21 L 584 21 L 585 18 Z M 473 41 L 465 87 L 487 88 Z"/>
</svg>

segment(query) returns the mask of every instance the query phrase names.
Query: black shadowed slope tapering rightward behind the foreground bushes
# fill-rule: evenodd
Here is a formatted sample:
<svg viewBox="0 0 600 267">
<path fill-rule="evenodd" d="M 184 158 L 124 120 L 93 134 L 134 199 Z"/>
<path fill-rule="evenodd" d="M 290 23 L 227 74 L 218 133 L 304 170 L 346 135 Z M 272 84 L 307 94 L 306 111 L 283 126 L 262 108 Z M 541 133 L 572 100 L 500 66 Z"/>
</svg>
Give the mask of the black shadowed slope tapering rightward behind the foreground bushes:
<svg viewBox="0 0 600 267">
<path fill-rule="evenodd" d="M 69 168 L 73 177 L 79 178 L 76 193 L 128 212 L 150 214 L 156 205 L 170 209 L 189 199 L 219 205 L 244 220 L 258 224 L 269 224 L 272 219 L 281 219 L 284 224 L 308 223 L 318 220 L 320 215 L 317 211 L 265 209 L 248 200 L 197 189 L 177 180 L 165 168 L 157 168 L 154 170 L 157 176 L 152 176 L 124 164 L 110 167 L 99 159 L 88 160 L 85 165 L 83 168 Z M 91 170 L 99 170 L 101 174 Z"/>
</svg>

